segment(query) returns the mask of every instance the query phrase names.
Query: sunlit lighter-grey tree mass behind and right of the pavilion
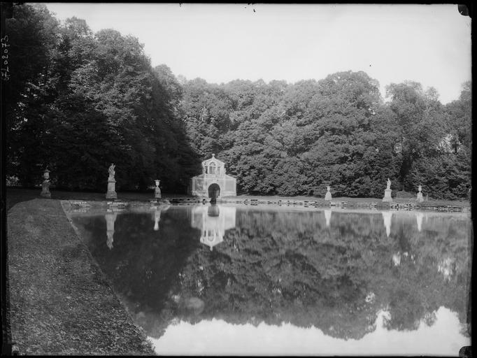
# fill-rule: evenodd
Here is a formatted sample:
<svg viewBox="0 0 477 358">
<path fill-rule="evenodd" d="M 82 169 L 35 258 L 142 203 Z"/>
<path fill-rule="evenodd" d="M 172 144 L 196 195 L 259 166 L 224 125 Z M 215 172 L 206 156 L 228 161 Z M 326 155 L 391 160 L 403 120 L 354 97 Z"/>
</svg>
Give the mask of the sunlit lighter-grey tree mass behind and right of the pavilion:
<svg viewBox="0 0 477 358">
<path fill-rule="evenodd" d="M 471 93 L 443 106 L 433 88 L 391 84 L 389 101 L 364 72 L 294 84 L 196 78 L 183 84 L 187 134 L 202 157 L 215 153 L 239 192 L 336 195 L 415 192 L 439 199 L 470 188 Z"/>
</svg>

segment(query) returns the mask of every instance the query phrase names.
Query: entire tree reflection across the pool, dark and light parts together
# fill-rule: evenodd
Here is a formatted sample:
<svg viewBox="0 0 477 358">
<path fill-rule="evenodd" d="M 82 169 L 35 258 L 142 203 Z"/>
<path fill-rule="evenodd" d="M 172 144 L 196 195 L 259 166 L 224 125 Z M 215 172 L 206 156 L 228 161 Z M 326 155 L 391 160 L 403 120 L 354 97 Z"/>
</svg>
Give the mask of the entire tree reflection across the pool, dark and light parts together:
<svg viewBox="0 0 477 358">
<path fill-rule="evenodd" d="M 414 329 L 421 320 L 432 324 L 440 306 L 465 322 L 462 220 L 429 217 L 418 232 L 415 217 L 393 215 L 387 238 L 379 214 L 335 212 L 330 227 L 321 212 L 251 210 L 236 218 L 236 228 L 226 231 L 213 252 L 187 238 L 198 235 L 192 229 L 178 234 L 164 222 L 160 240 L 151 227 L 152 233 L 131 241 L 130 227 L 140 219 L 126 215 L 118 217 L 124 240 L 115 236 L 115 257 L 102 247 L 92 251 L 115 289 L 130 292 L 123 299 L 131 311 L 142 312 L 136 322 L 155 337 L 173 317 L 192 323 L 213 317 L 234 324 L 291 322 L 340 338 L 372 331 L 385 308 L 390 329 Z M 181 231 L 187 231 L 184 225 Z M 399 266 L 392 263 L 396 252 Z M 446 257 L 456 259 L 448 279 L 438 270 Z M 120 262 L 126 264 L 118 269 Z"/>
</svg>

